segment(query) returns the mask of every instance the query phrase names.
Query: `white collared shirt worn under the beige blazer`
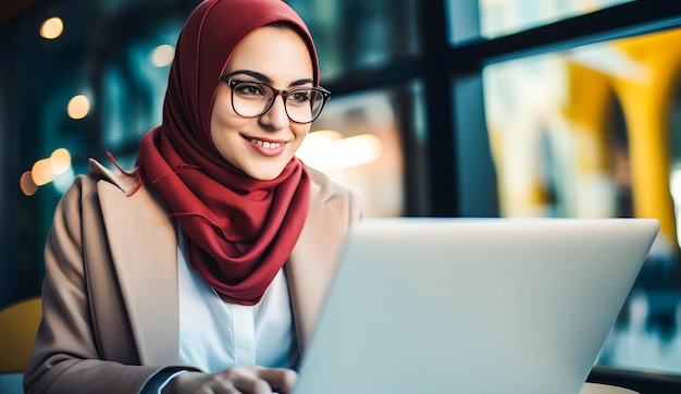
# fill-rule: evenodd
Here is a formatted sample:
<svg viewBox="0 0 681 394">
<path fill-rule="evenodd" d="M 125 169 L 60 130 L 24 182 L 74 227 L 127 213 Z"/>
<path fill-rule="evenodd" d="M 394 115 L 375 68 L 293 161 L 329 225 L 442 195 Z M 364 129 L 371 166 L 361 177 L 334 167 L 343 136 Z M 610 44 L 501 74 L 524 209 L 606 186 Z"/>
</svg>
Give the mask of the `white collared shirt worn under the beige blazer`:
<svg viewBox="0 0 681 394">
<path fill-rule="evenodd" d="M 185 258 L 178 231 L 179 362 L 205 372 L 262 366 L 293 368 L 298 358 L 284 270 L 255 306 L 222 300 Z"/>
</svg>

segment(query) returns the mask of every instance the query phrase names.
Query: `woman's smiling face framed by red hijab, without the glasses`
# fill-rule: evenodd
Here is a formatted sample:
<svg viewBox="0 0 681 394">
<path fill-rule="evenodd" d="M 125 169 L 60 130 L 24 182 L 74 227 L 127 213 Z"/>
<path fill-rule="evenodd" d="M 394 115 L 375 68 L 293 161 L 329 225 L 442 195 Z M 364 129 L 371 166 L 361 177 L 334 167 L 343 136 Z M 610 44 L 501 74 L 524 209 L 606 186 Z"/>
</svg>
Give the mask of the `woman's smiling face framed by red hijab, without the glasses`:
<svg viewBox="0 0 681 394">
<path fill-rule="evenodd" d="M 273 26 L 249 34 L 234 50 L 224 75 L 263 82 L 275 89 L 313 86 L 312 60 L 302 38 L 289 28 Z M 213 144 L 225 160 L 253 178 L 277 177 L 309 131 L 309 124 L 288 119 L 281 96 L 264 114 L 244 118 L 234 112 L 232 88 L 225 82 L 215 90 L 210 119 Z"/>
</svg>

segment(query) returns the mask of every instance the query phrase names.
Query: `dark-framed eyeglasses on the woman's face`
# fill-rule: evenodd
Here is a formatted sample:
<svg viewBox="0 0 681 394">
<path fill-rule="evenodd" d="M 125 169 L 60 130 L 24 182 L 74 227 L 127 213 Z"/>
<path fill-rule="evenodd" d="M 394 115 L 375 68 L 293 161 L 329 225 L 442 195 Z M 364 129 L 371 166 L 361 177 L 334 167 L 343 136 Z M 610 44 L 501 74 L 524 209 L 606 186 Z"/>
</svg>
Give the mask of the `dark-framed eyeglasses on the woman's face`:
<svg viewBox="0 0 681 394">
<path fill-rule="evenodd" d="M 282 96 L 286 115 L 295 123 L 311 123 L 331 98 L 331 91 L 321 86 L 278 90 L 260 81 L 223 77 L 232 89 L 232 108 L 244 118 L 258 118 L 272 108 L 274 99 Z"/>
</svg>

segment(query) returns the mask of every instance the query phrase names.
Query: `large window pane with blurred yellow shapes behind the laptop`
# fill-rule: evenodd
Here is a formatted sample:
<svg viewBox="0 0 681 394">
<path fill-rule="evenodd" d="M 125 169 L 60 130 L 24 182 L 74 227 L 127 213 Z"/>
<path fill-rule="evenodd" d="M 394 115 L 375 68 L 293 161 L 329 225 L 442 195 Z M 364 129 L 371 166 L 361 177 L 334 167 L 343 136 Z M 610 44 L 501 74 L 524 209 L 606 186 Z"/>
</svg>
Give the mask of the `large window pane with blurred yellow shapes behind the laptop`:
<svg viewBox="0 0 681 394">
<path fill-rule="evenodd" d="M 660 221 L 603 366 L 681 374 L 680 39 L 665 30 L 483 71 L 503 216 Z"/>
</svg>

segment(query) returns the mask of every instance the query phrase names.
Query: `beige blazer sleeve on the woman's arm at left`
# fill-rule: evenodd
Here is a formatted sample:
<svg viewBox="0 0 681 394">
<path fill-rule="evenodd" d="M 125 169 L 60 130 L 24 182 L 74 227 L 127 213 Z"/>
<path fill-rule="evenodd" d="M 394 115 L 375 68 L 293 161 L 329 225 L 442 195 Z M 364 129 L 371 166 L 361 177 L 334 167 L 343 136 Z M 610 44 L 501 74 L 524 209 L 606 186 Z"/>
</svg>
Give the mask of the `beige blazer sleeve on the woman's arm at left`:
<svg viewBox="0 0 681 394">
<path fill-rule="evenodd" d="M 60 200 L 45 249 L 42 321 L 24 374 L 26 393 L 135 393 L 162 366 L 101 359 L 88 303 L 83 205 L 95 182 L 79 175 Z"/>
</svg>

